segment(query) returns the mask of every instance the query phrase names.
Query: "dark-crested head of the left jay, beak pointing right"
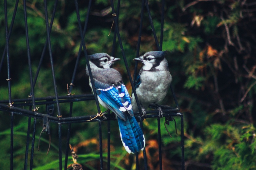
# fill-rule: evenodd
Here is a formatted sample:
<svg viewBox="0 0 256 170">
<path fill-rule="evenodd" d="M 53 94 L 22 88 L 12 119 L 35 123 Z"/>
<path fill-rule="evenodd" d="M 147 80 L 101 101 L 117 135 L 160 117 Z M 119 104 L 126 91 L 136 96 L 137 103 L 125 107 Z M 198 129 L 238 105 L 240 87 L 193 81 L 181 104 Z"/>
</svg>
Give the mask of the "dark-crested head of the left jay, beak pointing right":
<svg viewBox="0 0 256 170">
<path fill-rule="evenodd" d="M 102 69 L 108 69 L 114 64 L 115 61 L 120 60 L 120 58 L 109 56 L 106 53 L 96 53 L 89 55 L 88 57 L 93 64 Z"/>
</svg>

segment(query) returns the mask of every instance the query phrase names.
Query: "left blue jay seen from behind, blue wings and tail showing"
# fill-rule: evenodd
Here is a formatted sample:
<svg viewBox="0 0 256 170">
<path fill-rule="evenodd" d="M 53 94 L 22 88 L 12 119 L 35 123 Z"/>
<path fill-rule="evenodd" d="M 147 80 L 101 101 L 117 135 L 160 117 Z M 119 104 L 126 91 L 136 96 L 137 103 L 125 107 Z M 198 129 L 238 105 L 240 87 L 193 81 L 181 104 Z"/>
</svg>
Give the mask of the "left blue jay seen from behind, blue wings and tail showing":
<svg viewBox="0 0 256 170">
<path fill-rule="evenodd" d="M 114 61 L 120 58 L 111 57 L 106 53 L 89 55 L 89 58 L 99 103 L 115 113 L 123 146 L 128 153 L 143 150 L 145 137 L 133 115 L 129 93 L 123 84 L 121 74 L 111 68 Z M 89 76 L 88 67 L 86 74 Z M 92 88 L 90 78 L 89 85 Z"/>
</svg>

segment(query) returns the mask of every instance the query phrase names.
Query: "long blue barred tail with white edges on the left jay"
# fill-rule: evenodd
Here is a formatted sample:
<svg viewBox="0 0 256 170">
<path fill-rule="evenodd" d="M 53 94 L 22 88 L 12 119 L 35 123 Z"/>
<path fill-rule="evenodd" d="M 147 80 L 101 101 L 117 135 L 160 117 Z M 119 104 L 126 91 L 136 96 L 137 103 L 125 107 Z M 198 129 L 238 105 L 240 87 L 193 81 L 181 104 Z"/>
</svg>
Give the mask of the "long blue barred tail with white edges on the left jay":
<svg viewBox="0 0 256 170">
<path fill-rule="evenodd" d="M 127 117 L 126 121 L 118 117 L 121 140 L 128 153 L 139 152 L 145 147 L 145 137 L 135 117 L 129 114 L 127 114 Z"/>
</svg>

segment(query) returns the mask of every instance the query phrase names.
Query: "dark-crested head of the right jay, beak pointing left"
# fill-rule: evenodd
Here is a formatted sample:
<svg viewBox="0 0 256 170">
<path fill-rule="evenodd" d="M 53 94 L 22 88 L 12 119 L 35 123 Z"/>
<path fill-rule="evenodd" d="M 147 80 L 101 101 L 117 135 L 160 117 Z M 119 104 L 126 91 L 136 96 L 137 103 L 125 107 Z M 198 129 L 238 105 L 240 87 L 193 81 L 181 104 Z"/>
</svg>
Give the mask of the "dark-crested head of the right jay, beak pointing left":
<svg viewBox="0 0 256 170">
<path fill-rule="evenodd" d="M 167 51 L 150 51 L 138 58 L 134 58 L 133 60 L 142 62 L 143 70 L 163 70 L 168 66 L 167 61 L 164 60 L 166 54 Z"/>
</svg>

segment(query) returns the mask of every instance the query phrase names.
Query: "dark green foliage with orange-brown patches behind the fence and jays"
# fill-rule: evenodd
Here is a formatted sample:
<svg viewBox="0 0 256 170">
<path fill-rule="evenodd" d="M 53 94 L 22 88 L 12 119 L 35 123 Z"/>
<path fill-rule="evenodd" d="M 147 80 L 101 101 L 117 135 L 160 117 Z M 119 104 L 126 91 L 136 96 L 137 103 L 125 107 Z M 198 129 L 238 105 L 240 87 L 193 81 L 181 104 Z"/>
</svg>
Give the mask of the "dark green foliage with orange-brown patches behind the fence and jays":
<svg viewBox="0 0 256 170">
<path fill-rule="evenodd" d="M 158 40 L 161 27 L 161 1 L 149 0 L 149 6 Z M 7 1 L 8 28 L 14 10 L 14 0 Z M 32 60 L 32 74 L 35 76 L 40 56 L 45 44 L 46 26 L 43 1 L 31 0 L 27 3 L 27 22 Z M 88 2 L 79 1 L 82 26 L 87 14 Z M 115 1 L 115 8 L 117 2 Z M 168 50 L 169 69 L 173 77 L 172 87 L 177 96 L 180 112 L 184 113 L 185 161 L 186 169 L 199 170 L 256 170 L 255 137 L 255 9 L 247 1 L 166 1 L 164 11 L 163 50 Z M 52 16 L 54 1 L 47 1 L 48 19 Z M 4 1 L 0 1 L 4 6 Z M 3 8 L 2 8 L 3 9 Z M 121 1 L 119 30 L 122 45 L 130 71 L 133 75 L 140 23 L 141 1 Z M 89 15 L 85 43 L 88 54 L 97 52 L 112 53 L 114 27 L 109 1 L 93 1 Z M 0 51 L 5 47 L 4 10 L 0 10 Z M 111 30 L 111 33 L 109 34 Z M 80 31 L 74 2 L 61 1 L 51 30 L 53 64 L 59 96 L 67 94 L 67 83 L 72 78 L 73 68 L 80 48 Z M 27 61 L 27 45 L 24 28 L 23 2 L 19 2 L 14 27 L 9 42 L 11 95 L 13 99 L 27 98 L 30 77 Z M 144 10 L 140 54 L 157 50 L 151 26 Z M 122 58 L 118 40 L 114 56 Z M 6 58 L 0 70 L 0 100 L 8 99 Z M 35 84 L 35 97 L 54 96 L 52 71 L 49 53 L 43 58 L 39 77 Z M 91 94 L 88 77 L 85 76 L 86 60 L 84 54 L 78 65 L 75 86 L 71 93 Z M 139 66 L 140 67 L 140 66 Z M 130 82 L 123 60 L 114 65 L 123 76 L 131 92 Z M 6 103 L 7 104 L 7 103 Z M 161 103 L 175 107 L 171 90 Z M 45 105 L 38 105 L 39 113 L 45 113 Z M 69 113 L 68 104 L 60 104 L 64 117 Z M 24 109 L 28 109 L 25 107 Z M 56 109 L 55 109 L 56 110 Z M 105 109 L 101 106 L 101 110 Z M 95 115 L 95 101 L 73 103 L 72 116 Z M 56 111 L 54 113 L 56 115 Z M 181 159 L 180 117 L 166 128 L 160 119 L 163 167 L 179 169 L 175 166 Z M 25 141 L 28 118 L 14 116 L 14 169 L 24 167 Z M 31 129 L 33 123 L 31 123 Z M 58 129 L 50 124 L 52 144 L 46 156 L 49 137 L 42 134 L 40 149 L 36 150 L 41 132 L 42 121 L 37 120 L 34 151 L 34 169 L 58 169 Z M 143 121 L 149 167 L 158 167 L 158 123 L 156 119 Z M 78 148 L 78 162 L 87 169 L 98 169 L 98 123 L 72 124 L 70 143 Z M 102 137 L 106 139 L 106 123 L 102 122 Z M 65 152 L 67 125 L 62 125 Z M 119 134 L 117 121 L 111 122 L 111 134 Z M 10 115 L 0 113 L 0 164 L 2 169 L 9 168 L 10 157 Z M 30 136 L 31 137 L 31 136 Z M 106 143 L 106 142 L 105 142 Z M 105 144 L 103 142 L 103 144 Z M 154 152 L 153 152 L 153 151 Z M 30 154 L 31 148 L 29 148 Z M 104 161 L 106 158 L 104 151 Z M 154 155 L 156 154 L 156 155 Z M 30 157 L 30 156 L 29 156 Z M 42 157 L 44 159 L 42 159 Z M 143 156 L 139 154 L 139 157 Z M 8 158 L 8 159 L 7 159 Z M 111 168 L 135 169 L 134 157 L 129 156 L 122 146 L 118 135 L 111 135 Z M 71 157 L 68 164 L 71 164 Z M 154 162 L 154 160 L 156 162 Z M 28 160 L 29 162 L 30 160 Z M 64 161 L 63 161 L 64 162 Z M 143 163 L 140 163 L 143 164 Z M 29 166 L 29 163 L 28 163 Z M 64 165 L 63 165 L 64 166 Z M 153 168 L 154 169 L 154 168 Z M 164 169 L 164 168 L 163 168 Z"/>
</svg>

